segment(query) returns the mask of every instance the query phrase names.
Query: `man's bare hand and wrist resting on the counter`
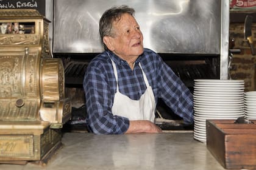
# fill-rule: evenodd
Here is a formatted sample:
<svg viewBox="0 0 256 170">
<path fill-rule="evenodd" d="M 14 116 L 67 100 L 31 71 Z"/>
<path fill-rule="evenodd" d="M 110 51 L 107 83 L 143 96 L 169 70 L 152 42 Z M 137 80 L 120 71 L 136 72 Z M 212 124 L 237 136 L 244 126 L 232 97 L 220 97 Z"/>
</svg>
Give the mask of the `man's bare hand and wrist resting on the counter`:
<svg viewBox="0 0 256 170">
<path fill-rule="evenodd" d="M 162 129 L 148 120 L 133 120 L 130 121 L 130 126 L 126 134 L 133 133 L 160 133 Z"/>
</svg>

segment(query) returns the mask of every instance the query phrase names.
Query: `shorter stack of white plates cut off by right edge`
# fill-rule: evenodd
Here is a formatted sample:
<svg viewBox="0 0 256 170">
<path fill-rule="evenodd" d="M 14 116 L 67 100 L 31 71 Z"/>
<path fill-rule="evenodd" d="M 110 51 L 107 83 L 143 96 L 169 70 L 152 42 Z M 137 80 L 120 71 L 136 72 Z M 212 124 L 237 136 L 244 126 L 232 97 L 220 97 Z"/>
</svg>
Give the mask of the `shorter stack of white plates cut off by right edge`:
<svg viewBox="0 0 256 170">
<path fill-rule="evenodd" d="M 256 120 L 256 91 L 244 93 L 244 114 L 247 119 Z"/>
</svg>

